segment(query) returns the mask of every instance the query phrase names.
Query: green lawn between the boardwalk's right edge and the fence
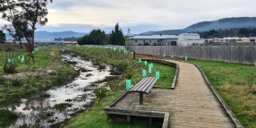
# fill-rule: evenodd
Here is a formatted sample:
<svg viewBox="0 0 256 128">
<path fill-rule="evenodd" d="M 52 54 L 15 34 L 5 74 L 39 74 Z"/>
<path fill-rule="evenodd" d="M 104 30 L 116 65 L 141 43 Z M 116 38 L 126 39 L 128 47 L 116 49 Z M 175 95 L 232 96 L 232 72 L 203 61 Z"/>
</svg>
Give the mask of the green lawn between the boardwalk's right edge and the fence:
<svg viewBox="0 0 256 128">
<path fill-rule="evenodd" d="M 256 67 L 202 60 L 190 62 L 198 64 L 206 73 L 211 84 L 243 126 L 256 128 Z"/>
</svg>

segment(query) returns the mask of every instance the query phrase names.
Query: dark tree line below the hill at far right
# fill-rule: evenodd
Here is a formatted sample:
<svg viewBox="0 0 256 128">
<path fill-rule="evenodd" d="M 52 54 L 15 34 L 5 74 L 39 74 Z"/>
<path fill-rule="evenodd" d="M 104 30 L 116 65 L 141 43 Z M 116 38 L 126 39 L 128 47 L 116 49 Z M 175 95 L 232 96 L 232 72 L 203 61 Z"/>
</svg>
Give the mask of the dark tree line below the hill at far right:
<svg viewBox="0 0 256 128">
<path fill-rule="evenodd" d="M 256 28 L 234 28 L 200 32 L 201 38 L 256 37 Z"/>
</svg>

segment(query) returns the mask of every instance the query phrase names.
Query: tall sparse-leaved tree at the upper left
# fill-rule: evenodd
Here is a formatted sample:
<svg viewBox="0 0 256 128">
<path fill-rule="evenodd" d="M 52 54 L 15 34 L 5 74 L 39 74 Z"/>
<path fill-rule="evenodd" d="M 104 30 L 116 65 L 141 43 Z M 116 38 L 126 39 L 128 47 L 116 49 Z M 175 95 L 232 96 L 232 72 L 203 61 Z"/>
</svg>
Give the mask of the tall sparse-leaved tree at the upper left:
<svg viewBox="0 0 256 128">
<path fill-rule="evenodd" d="M 47 23 L 47 4 L 53 0 L 1 0 L 2 19 L 9 21 L 14 31 L 26 38 L 30 48 L 34 49 L 34 36 L 37 25 Z"/>
</svg>

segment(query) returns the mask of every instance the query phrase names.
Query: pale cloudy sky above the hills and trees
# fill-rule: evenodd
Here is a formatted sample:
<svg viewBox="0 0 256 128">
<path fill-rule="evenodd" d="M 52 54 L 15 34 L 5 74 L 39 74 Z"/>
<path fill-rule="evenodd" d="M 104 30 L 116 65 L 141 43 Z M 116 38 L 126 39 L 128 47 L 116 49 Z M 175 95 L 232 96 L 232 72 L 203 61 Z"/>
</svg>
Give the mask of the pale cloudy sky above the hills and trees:
<svg viewBox="0 0 256 128">
<path fill-rule="evenodd" d="M 256 0 L 54 0 L 38 30 L 107 32 L 119 22 L 124 33 L 179 30 L 200 21 L 256 16 Z M 6 23 L 0 20 L 0 26 Z"/>
</svg>

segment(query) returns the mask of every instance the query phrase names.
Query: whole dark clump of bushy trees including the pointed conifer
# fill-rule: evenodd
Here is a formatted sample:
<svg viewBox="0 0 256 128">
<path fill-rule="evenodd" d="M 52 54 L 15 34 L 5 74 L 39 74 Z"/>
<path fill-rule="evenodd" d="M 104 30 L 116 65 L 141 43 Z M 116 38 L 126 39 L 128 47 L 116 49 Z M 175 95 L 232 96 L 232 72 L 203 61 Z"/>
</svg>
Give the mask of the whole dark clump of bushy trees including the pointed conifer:
<svg viewBox="0 0 256 128">
<path fill-rule="evenodd" d="M 111 34 L 106 34 L 104 30 L 91 30 L 89 35 L 85 35 L 77 39 L 79 45 L 125 45 L 124 33 L 119 27 L 119 23 L 115 24 L 115 30 Z"/>
</svg>

